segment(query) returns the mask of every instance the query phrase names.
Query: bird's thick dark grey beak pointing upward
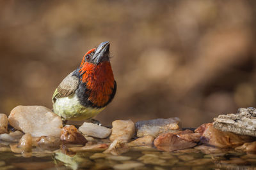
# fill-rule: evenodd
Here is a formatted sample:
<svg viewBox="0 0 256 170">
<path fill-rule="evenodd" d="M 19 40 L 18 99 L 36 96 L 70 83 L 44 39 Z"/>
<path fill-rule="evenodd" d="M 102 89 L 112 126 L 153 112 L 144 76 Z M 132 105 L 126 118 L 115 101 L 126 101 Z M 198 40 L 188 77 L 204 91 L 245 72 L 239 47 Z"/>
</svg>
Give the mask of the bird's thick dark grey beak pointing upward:
<svg viewBox="0 0 256 170">
<path fill-rule="evenodd" d="M 109 41 L 100 43 L 98 48 L 95 50 L 92 61 L 95 64 L 99 64 L 100 62 L 109 60 Z"/>
</svg>

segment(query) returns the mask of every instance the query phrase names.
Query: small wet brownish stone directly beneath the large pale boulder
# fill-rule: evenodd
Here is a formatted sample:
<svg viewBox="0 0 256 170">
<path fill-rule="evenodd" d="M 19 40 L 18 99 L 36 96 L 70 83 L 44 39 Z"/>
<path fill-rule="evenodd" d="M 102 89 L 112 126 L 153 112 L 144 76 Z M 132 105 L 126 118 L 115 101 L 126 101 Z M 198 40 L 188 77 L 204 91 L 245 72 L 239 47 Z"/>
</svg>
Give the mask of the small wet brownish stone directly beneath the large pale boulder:
<svg viewBox="0 0 256 170">
<path fill-rule="evenodd" d="M 60 146 L 60 138 L 54 136 L 40 136 L 38 138 L 33 138 L 33 146 L 56 148 L 57 146 Z"/>
</svg>

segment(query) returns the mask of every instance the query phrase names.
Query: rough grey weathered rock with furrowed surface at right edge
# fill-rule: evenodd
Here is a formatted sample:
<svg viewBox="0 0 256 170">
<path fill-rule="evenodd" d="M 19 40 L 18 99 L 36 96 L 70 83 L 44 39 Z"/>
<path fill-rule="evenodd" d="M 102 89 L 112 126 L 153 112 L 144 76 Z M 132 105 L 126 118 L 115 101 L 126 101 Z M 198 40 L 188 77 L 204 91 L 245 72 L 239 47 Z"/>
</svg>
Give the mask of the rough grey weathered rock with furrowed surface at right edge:
<svg viewBox="0 0 256 170">
<path fill-rule="evenodd" d="M 239 108 L 236 114 L 219 115 L 213 125 L 220 131 L 256 137 L 256 109 Z"/>
</svg>

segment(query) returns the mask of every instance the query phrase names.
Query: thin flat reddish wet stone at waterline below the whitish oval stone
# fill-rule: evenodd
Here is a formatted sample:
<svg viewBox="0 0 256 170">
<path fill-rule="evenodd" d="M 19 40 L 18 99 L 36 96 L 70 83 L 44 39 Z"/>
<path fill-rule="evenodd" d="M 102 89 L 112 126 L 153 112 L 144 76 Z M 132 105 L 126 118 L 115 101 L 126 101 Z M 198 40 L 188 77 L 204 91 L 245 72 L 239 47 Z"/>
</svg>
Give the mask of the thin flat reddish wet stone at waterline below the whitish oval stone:
<svg viewBox="0 0 256 170">
<path fill-rule="evenodd" d="M 97 144 L 97 145 L 90 145 L 90 146 L 83 146 L 83 147 L 72 147 L 68 148 L 71 152 L 102 152 L 108 149 L 109 144 Z"/>
</svg>

